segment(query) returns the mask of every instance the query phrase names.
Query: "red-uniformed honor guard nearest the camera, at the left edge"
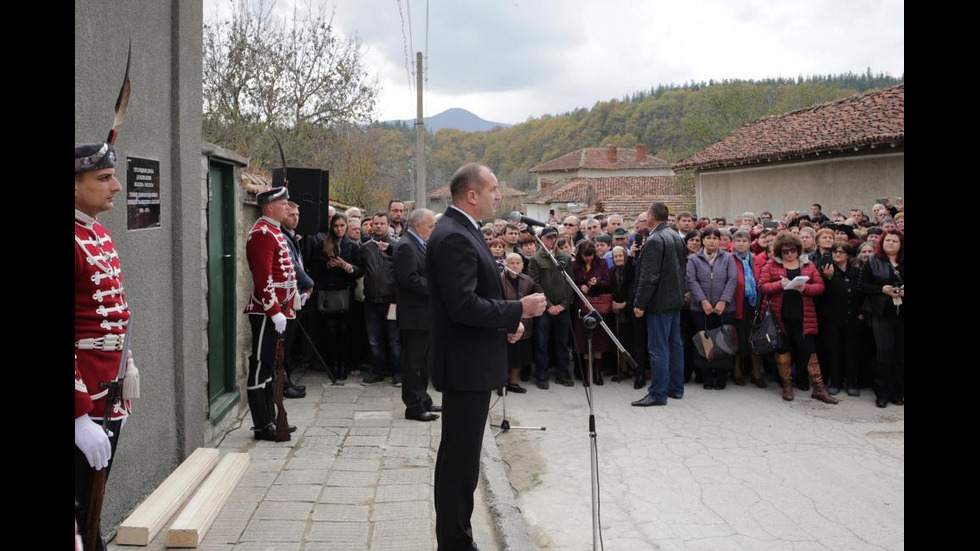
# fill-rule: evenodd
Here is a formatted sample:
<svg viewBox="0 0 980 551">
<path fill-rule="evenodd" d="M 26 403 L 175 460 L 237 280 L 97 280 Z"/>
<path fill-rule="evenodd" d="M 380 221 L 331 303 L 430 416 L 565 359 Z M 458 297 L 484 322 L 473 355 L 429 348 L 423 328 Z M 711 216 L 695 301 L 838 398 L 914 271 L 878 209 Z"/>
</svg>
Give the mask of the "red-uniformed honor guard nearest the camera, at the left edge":
<svg viewBox="0 0 980 551">
<path fill-rule="evenodd" d="M 122 190 L 115 173 L 116 150 L 111 144 L 75 146 L 75 501 L 81 519 L 101 515 L 86 509 L 89 494 L 98 491 L 90 492 L 90 477 L 102 469 L 108 474 L 129 415 L 129 398 L 137 392 L 137 374 L 128 354 L 121 398 L 113 392 L 116 387 L 110 388 L 110 383 L 121 382 L 130 318 L 119 254 L 109 230 L 96 220 L 112 209 Z M 98 536 L 96 546 L 103 545 Z"/>
</svg>

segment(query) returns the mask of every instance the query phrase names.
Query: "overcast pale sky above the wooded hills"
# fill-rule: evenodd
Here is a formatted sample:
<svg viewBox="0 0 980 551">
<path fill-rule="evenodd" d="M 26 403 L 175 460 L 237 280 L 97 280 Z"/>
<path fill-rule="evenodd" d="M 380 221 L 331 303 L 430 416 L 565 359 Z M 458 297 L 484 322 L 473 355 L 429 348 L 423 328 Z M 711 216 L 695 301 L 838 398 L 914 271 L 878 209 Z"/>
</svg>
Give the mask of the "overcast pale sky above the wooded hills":
<svg viewBox="0 0 980 551">
<path fill-rule="evenodd" d="M 378 119 L 415 116 L 405 52 L 410 42 L 414 63 L 412 47 L 426 51 L 424 0 L 279 0 L 276 10 L 294 1 L 336 6 L 335 26 L 360 38 L 381 85 Z M 205 0 L 205 19 L 225 8 Z M 428 9 L 426 115 L 462 107 L 517 123 L 661 83 L 905 72 L 901 1 L 431 0 Z"/>
</svg>

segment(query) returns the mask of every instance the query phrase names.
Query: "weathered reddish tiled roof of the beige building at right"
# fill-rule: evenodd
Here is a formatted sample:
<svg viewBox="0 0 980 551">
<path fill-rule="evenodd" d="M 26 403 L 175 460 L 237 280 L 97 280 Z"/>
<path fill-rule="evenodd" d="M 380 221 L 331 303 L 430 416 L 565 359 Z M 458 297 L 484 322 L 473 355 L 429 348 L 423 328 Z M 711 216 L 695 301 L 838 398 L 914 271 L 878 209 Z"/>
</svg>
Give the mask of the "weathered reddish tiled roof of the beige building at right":
<svg viewBox="0 0 980 551">
<path fill-rule="evenodd" d="M 905 146 L 905 85 L 851 96 L 739 128 L 675 170 L 798 160 Z"/>
</svg>

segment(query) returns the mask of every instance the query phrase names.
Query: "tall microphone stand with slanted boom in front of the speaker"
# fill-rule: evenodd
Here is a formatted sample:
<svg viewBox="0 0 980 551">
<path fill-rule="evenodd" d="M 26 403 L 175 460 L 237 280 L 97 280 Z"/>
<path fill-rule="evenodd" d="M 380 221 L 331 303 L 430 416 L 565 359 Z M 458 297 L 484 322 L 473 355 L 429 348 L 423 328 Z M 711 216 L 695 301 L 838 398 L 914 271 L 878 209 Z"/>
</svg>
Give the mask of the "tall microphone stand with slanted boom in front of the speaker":
<svg viewBox="0 0 980 551">
<path fill-rule="evenodd" d="M 572 290 L 575 291 L 575 294 L 578 295 L 578 298 L 581 300 L 582 304 L 589 309 L 589 312 L 581 316 L 581 318 L 582 325 L 585 327 L 586 331 L 589 351 L 588 374 L 586 375 L 586 380 L 589 381 L 589 385 L 585 387 L 585 399 L 589 403 L 589 462 L 591 463 L 592 475 L 592 549 L 593 551 L 598 551 L 599 541 L 602 537 L 602 528 L 599 526 L 599 452 L 598 447 L 596 446 L 597 433 L 595 424 L 595 402 L 593 396 L 593 389 L 596 385 L 592 383 L 592 370 L 594 369 L 592 359 L 592 332 L 595 330 L 595 328 L 601 327 L 602 330 L 609 335 L 609 339 L 616 345 L 619 353 L 622 354 L 622 357 L 626 360 L 626 363 L 628 363 L 630 367 L 635 370 L 637 369 L 637 364 L 636 360 L 633 359 L 633 356 L 627 352 L 626 348 L 623 347 L 623 344 L 619 342 L 616 335 L 613 334 L 612 330 L 609 329 L 609 326 L 606 325 L 606 321 L 602 318 L 602 314 L 596 311 L 595 307 L 592 306 L 592 303 L 589 302 L 589 299 L 587 299 L 585 294 L 582 293 L 582 290 L 575 285 L 575 281 L 573 281 L 572 278 L 568 276 L 568 273 L 565 272 L 564 268 L 562 268 L 561 262 L 558 262 L 558 259 L 555 258 L 554 253 L 544 246 L 544 243 L 541 241 L 541 237 L 539 237 L 538 234 L 533 231 L 531 232 L 531 235 L 533 235 L 534 239 L 537 240 L 541 250 L 548 253 L 548 257 L 551 259 L 551 262 L 554 263 L 556 268 L 558 268 L 558 272 L 565 277 L 565 281 L 572 288 Z"/>
</svg>

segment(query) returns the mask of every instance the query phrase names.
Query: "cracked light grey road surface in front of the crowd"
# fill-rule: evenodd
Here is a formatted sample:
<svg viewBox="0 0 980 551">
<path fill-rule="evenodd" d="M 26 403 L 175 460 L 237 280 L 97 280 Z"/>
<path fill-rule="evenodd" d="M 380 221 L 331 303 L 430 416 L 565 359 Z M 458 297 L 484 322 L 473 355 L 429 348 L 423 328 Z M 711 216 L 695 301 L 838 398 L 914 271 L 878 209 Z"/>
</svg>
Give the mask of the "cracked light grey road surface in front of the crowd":
<svg viewBox="0 0 980 551">
<path fill-rule="evenodd" d="M 511 396 L 511 423 L 547 431 L 497 438 L 539 549 L 592 547 L 579 384 Z M 837 406 L 809 394 L 787 403 L 773 385 L 691 385 L 638 408 L 643 391 L 607 379 L 595 394 L 606 549 L 904 549 L 904 407 L 877 409 L 868 391 Z"/>
</svg>

